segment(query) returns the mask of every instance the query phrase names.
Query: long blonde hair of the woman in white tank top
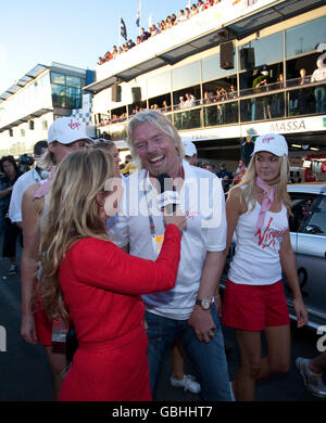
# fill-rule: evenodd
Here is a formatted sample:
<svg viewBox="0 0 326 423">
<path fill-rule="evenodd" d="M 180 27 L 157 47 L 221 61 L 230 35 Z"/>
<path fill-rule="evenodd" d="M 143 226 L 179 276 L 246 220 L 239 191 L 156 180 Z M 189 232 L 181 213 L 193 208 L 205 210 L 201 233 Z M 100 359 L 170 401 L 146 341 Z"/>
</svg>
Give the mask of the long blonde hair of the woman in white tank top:
<svg viewBox="0 0 326 423">
<path fill-rule="evenodd" d="M 288 214 L 291 215 L 291 200 L 287 192 L 288 175 L 290 170 L 289 161 L 287 156 L 280 156 L 279 158 L 279 178 L 275 188 L 275 197 L 280 200 L 280 202 L 287 207 Z M 255 169 L 255 155 L 251 157 L 251 161 L 248 165 L 246 174 L 241 179 L 241 182 L 233 187 L 229 192 L 235 190 L 238 187 L 241 187 L 240 202 L 244 202 L 247 207 L 251 205 L 250 210 L 253 210 L 255 207 L 255 179 L 256 179 L 256 169 Z"/>
</svg>

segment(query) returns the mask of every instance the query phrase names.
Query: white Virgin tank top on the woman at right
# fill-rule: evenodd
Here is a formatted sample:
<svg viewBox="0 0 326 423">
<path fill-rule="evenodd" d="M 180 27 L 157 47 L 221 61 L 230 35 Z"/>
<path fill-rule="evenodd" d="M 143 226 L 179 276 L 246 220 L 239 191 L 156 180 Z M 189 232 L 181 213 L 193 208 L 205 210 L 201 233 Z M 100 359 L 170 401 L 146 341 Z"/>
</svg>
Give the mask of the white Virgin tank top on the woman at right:
<svg viewBox="0 0 326 423">
<path fill-rule="evenodd" d="M 251 209 L 249 205 L 248 210 Z M 264 225 L 256 229 L 261 205 L 238 219 L 236 253 L 230 264 L 228 279 L 248 285 L 269 285 L 281 279 L 279 247 L 288 229 L 287 208 L 279 213 L 266 211 Z"/>
</svg>

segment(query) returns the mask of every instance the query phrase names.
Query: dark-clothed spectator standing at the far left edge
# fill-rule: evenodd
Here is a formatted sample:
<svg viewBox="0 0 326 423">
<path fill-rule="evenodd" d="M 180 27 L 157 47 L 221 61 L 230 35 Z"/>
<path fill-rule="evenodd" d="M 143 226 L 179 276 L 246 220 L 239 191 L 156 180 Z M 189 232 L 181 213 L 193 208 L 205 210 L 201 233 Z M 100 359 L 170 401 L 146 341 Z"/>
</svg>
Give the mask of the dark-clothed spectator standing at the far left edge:
<svg viewBox="0 0 326 423">
<path fill-rule="evenodd" d="M 11 261 L 8 274 L 16 274 L 17 272 L 17 262 L 16 262 L 16 242 L 20 238 L 22 244 L 22 231 L 21 229 L 11 222 L 8 217 L 8 210 L 10 205 L 10 200 L 12 195 L 12 190 L 14 183 L 22 175 L 16 161 L 13 156 L 3 156 L 0 159 L 0 170 L 3 172 L 1 185 L 4 188 L 0 191 L 0 198 L 3 198 L 5 202 L 3 213 L 4 213 L 4 235 L 3 235 L 3 248 L 2 256 L 8 257 Z"/>
</svg>

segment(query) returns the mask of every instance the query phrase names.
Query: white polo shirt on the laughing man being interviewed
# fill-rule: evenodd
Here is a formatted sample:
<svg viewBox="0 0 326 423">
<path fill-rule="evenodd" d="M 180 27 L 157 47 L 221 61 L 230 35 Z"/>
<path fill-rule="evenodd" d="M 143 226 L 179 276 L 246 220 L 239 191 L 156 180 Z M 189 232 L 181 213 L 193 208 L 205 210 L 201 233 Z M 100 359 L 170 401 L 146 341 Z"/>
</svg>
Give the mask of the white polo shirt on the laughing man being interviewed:
<svg viewBox="0 0 326 423">
<path fill-rule="evenodd" d="M 186 320 L 192 312 L 206 252 L 226 247 L 225 200 L 220 179 L 186 161 L 183 167 L 178 207 L 187 217 L 187 228 L 183 231 L 176 285 L 171 291 L 142 296 L 149 311 L 177 320 Z M 145 169 L 130 175 L 125 188 L 124 209 L 109 230 L 111 240 L 120 246 L 129 244 L 131 255 L 155 260 L 149 213 L 155 235 L 164 234 L 158 194 Z"/>
</svg>

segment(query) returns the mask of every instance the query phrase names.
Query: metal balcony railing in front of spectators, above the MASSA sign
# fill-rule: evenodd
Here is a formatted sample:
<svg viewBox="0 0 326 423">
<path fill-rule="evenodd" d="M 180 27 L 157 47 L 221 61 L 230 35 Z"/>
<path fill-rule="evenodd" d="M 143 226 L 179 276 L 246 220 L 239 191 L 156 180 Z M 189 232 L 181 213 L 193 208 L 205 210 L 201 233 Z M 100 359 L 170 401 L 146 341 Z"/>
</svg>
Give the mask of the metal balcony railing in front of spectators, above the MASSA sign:
<svg viewBox="0 0 326 423">
<path fill-rule="evenodd" d="M 177 130 L 326 113 L 326 80 L 314 84 L 300 81 L 296 78 L 285 84 L 271 84 L 260 91 L 253 88 L 241 90 L 222 100 L 214 97 L 200 99 L 188 108 L 180 108 L 177 104 L 159 111 L 168 116 Z M 125 115 L 111 119 L 100 128 L 113 140 L 125 139 L 125 127 L 130 117 Z"/>
</svg>

